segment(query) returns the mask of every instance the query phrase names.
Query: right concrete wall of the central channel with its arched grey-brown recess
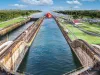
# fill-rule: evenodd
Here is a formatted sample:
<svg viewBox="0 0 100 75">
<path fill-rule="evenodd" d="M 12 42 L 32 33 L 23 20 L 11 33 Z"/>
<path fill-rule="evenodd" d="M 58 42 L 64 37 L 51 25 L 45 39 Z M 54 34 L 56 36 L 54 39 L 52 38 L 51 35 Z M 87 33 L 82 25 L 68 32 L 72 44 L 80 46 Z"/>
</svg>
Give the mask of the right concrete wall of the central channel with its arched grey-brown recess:
<svg viewBox="0 0 100 75">
<path fill-rule="evenodd" d="M 69 43 L 72 51 L 74 51 L 74 53 L 76 54 L 76 56 L 79 58 L 82 66 L 83 67 L 92 67 L 94 65 L 94 61 L 93 61 L 93 59 L 90 56 L 91 53 L 89 55 L 88 53 L 86 53 L 84 51 L 83 45 L 85 46 L 85 44 L 81 43 L 80 41 L 77 42 L 77 43 L 75 43 L 75 44 L 73 44 L 73 41 L 69 38 L 68 33 L 66 33 L 66 31 L 64 30 L 64 28 L 60 25 L 60 23 L 58 21 L 58 18 L 54 17 L 54 19 L 56 20 L 56 22 L 57 22 L 60 30 L 62 31 L 62 33 L 63 33 L 63 35 L 64 35 L 64 37 L 66 39 L 66 41 Z M 77 46 L 77 47 L 74 48 L 74 46 L 75 47 Z M 87 48 L 87 51 L 89 51 L 88 48 Z"/>
</svg>

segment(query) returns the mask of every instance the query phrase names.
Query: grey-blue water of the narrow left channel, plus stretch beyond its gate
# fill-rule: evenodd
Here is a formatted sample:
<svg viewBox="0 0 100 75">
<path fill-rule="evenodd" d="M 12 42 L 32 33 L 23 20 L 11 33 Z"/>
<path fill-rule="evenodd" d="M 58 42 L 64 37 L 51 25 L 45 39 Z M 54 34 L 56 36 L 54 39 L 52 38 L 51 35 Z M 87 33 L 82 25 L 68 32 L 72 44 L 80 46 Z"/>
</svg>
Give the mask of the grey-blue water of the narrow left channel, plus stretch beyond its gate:
<svg viewBox="0 0 100 75">
<path fill-rule="evenodd" d="M 39 18 L 39 17 L 42 17 L 44 15 L 44 13 L 35 13 L 35 14 L 32 14 L 30 17 L 33 17 L 33 18 Z M 15 38 L 17 38 L 23 31 L 25 31 L 29 26 L 31 26 L 32 24 L 34 23 L 34 21 L 31 21 L 31 22 L 28 22 L 26 23 L 25 25 L 13 30 L 12 32 L 8 33 L 7 35 L 3 36 L 0 38 L 0 41 L 1 40 L 4 40 L 4 39 L 8 39 L 9 41 L 12 41 L 14 40 Z"/>
</svg>

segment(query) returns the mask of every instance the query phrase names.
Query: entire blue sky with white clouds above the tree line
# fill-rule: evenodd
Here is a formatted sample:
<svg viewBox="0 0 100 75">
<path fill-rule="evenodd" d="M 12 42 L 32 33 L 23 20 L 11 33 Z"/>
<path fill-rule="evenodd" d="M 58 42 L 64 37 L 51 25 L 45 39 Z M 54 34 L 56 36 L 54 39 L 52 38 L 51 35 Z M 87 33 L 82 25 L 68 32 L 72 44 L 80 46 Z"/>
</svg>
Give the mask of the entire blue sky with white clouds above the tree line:
<svg viewBox="0 0 100 75">
<path fill-rule="evenodd" d="M 0 9 L 100 10 L 100 0 L 1 0 Z"/>
</svg>

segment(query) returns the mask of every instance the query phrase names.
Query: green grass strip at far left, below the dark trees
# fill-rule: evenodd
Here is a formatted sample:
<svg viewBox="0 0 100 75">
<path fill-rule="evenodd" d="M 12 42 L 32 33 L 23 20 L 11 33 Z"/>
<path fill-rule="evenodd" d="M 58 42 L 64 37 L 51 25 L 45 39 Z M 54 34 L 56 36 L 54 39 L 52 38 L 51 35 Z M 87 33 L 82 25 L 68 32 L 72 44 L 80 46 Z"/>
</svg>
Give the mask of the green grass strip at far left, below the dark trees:
<svg viewBox="0 0 100 75">
<path fill-rule="evenodd" d="M 23 20 L 25 20 L 25 18 L 23 18 L 23 17 L 19 17 L 19 18 L 16 18 L 16 19 L 9 20 L 7 22 L 1 23 L 0 28 L 7 27 L 9 25 L 15 24 L 15 23 L 23 21 Z"/>
</svg>

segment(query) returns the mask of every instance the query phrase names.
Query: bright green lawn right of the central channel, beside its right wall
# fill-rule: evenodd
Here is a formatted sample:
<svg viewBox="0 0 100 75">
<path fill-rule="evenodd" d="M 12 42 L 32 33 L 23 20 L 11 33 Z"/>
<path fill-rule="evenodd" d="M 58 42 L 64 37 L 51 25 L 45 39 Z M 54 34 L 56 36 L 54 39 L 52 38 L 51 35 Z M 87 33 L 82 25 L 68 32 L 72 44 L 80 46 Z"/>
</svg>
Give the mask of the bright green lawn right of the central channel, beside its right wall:
<svg viewBox="0 0 100 75">
<path fill-rule="evenodd" d="M 78 39 L 83 39 L 87 41 L 89 44 L 100 44 L 100 37 L 88 35 L 76 27 L 73 27 L 71 24 L 67 24 L 65 22 L 60 22 L 64 29 L 69 30 L 69 37 L 71 40 L 75 40 L 75 37 Z"/>
</svg>

